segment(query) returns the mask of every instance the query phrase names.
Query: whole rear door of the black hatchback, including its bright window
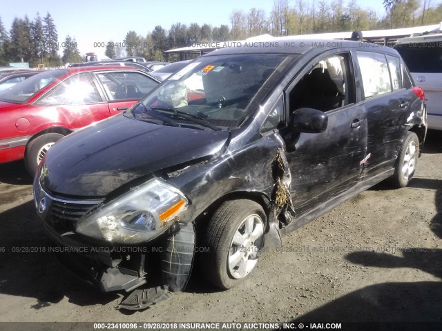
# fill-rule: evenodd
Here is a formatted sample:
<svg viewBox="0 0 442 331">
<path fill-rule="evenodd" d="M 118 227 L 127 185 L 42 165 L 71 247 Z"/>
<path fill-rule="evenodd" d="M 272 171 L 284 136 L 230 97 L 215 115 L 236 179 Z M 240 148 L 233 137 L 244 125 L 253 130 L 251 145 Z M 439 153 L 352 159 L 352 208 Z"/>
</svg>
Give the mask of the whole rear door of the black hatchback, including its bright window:
<svg viewBox="0 0 442 331">
<path fill-rule="evenodd" d="M 363 177 L 394 168 L 398 148 L 413 118 L 416 94 L 404 86 L 401 59 L 382 52 L 356 51 L 361 73 L 361 104 L 367 112 L 367 156 Z"/>
</svg>

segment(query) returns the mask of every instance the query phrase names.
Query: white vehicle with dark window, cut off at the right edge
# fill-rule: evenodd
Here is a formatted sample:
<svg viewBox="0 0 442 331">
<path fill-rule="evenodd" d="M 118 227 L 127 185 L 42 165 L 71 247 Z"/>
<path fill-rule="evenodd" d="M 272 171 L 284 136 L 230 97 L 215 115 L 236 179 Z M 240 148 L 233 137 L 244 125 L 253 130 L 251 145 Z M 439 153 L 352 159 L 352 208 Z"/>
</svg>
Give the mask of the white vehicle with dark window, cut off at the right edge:
<svg viewBox="0 0 442 331">
<path fill-rule="evenodd" d="M 401 38 L 394 48 L 425 92 L 428 128 L 442 130 L 442 34 Z"/>
</svg>

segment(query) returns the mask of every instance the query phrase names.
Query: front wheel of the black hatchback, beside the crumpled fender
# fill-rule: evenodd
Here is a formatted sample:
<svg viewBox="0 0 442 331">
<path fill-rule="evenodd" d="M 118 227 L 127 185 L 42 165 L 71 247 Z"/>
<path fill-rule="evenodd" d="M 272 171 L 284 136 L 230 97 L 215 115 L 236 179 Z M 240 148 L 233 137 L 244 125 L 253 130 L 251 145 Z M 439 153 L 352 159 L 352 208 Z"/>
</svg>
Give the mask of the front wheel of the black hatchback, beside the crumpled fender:
<svg viewBox="0 0 442 331">
<path fill-rule="evenodd" d="M 202 259 L 206 279 L 225 290 L 246 279 L 258 263 L 256 254 L 264 243 L 264 230 L 265 212 L 258 203 L 222 203 L 207 227 L 209 251 Z"/>
</svg>

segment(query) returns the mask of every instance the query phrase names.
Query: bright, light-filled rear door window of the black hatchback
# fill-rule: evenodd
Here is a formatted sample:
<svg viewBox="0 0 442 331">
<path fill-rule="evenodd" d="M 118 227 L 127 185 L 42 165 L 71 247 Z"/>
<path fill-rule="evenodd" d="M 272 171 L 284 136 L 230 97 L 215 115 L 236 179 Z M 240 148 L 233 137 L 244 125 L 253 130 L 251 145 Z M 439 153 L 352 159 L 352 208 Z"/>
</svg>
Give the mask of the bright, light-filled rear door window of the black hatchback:
<svg viewBox="0 0 442 331">
<path fill-rule="evenodd" d="M 392 92 L 392 83 L 385 55 L 375 52 L 356 52 L 365 98 Z"/>
</svg>

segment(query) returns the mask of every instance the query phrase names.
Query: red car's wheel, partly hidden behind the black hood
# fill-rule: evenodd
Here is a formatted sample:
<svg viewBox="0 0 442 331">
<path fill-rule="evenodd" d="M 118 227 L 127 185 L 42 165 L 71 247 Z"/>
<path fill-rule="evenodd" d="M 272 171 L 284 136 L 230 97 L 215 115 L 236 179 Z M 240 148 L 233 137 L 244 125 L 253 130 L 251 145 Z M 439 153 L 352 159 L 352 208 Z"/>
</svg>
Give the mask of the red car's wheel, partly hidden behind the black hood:
<svg viewBox="0 0 442 331">
<path fill-rule="evenodd" d="M 47 133 L 33 139 L 26 146 L 25 165 L 28 172 L 34 176 L 41 159 L 43 159 L 50 146 L 63 138 L 63 134 Z"/>
</svg>

